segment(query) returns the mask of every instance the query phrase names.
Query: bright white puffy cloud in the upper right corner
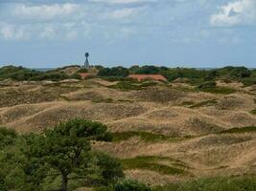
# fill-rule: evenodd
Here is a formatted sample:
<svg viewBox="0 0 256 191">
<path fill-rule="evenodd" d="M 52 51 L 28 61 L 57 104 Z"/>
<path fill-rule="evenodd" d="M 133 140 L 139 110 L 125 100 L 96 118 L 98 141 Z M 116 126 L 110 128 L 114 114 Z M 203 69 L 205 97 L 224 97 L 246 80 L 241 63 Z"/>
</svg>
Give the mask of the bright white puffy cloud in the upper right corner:
<svg viewBox="0 0 256 191">
<path fill-rule="evenodd" d="M 222 6 L 213 14 L 210 24 L 214 27 L 236 27 L 256 24 L 256 1 L 239 0 Z"/>
</svg>

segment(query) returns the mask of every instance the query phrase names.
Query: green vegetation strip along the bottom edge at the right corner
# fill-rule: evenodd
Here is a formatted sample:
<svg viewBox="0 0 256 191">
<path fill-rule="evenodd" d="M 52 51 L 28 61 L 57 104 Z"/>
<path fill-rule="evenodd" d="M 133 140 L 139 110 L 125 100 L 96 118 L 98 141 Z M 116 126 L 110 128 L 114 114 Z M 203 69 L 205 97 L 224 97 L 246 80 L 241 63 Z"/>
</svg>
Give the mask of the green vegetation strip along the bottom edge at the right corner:
<svg viewBox="0 0 256 191">
<path fill-rule="evenodd" d="M 228 177 L 179 181 L 164 186 L 156 186 L 153 191 L 254 191 L 256 177 Z"/>
</svg>

